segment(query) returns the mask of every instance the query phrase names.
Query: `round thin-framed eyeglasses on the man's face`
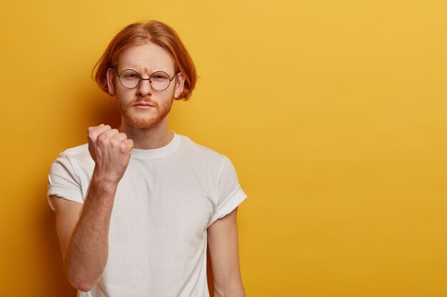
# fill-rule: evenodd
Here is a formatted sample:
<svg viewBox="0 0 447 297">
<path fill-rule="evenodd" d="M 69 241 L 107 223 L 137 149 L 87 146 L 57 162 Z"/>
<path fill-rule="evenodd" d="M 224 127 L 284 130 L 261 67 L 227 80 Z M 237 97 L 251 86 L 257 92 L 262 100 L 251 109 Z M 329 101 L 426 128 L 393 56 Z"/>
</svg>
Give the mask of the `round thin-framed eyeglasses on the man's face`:
<svg viewBox="0 0 447 297">
<path fill-rule="evenodd" d="M 156 71 L 149 76 L 149 78 L 141 78 L 141 76 L 132 69 L 126 69 L 118 74 L 118 70 L 115 68 L 118 75 L 119 82 L 124 88 L 133 89 L 139 86 L 141 80 L 149 80 L 151 88 L 154 90 L 166 90 L 171 81 L 175 78 L 175 75 L 170 78 L 168 73 L 164 71 Z"/>
</svg>

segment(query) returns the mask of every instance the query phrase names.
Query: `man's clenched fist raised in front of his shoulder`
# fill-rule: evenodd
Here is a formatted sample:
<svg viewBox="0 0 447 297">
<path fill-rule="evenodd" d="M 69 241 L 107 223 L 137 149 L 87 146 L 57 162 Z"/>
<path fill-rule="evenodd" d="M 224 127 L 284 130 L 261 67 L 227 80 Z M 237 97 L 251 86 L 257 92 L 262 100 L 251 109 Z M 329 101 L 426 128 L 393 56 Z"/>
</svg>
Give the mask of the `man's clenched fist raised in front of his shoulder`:
<svg viewBox="0 0 447 297">
<path fill-rule="evenodd" d="M 95 173 L 105 182 L 118 183 L 129 165 L 134 141 L 109 125 L 89 127 L 88 132 Z"/>
</svg>

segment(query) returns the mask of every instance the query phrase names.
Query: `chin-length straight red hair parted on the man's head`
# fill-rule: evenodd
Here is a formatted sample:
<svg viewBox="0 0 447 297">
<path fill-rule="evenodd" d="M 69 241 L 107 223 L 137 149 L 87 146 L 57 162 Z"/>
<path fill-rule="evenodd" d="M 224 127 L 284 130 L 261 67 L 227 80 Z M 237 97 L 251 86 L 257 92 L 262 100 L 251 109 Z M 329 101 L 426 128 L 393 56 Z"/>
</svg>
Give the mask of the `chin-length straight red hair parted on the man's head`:
<svg viewBox="0 0 447 297">
<path fill-rule="evenodd" d="M 126 48 L 146 44 L 148 42 L 161 46 L 174 57 L 174 61 L 176 62 L 176 72 L 180 71 L 185 78 L 183 93 L 176 99 L 188 100 L 196 86 L 196 67 L 176 31 L 170 26 L 161 23 L 161 21 L 130 24 L 116 34 L 93 68 L 93 72 L 96 68 L 94 80 L 96 80 L 99 88 L 104 92 L 109 93 L 109 88 L 107 86 L 107 71 L 109 68 L 116 67 L 119 55 L 121 55 Z"/>
</svg>

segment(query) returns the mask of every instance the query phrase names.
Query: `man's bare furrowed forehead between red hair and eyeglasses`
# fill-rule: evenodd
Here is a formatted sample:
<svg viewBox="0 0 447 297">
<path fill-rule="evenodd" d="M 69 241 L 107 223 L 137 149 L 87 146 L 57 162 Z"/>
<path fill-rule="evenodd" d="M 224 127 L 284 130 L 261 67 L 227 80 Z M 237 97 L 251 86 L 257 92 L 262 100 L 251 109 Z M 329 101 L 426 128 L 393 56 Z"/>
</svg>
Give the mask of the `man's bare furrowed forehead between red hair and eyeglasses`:
<svg viewBox="0 0 447 297">
<path fill-rule="evenodd" d="M 154 43 L 131 46 L 118 59 L 119 70 L 134 69 L 141 73 L 154 71 L 174 71 L 175 61 L 169 51 Z"/>
</svg>

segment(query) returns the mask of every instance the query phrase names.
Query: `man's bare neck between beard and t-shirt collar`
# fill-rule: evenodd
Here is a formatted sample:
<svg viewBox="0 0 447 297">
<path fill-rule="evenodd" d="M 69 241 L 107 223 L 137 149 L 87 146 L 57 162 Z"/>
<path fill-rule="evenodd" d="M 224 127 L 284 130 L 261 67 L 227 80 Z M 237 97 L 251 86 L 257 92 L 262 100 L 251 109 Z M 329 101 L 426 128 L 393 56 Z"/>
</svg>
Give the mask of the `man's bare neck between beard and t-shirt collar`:
<svg viewBox="0 0 447 297">
<path fill-rule="evenodd" d="M 174 138 L 174 133 L 168 130 L 167 118 L 152 127 L 132 127 L 122 120 L 120 132 L 124 132 L 127 138 L 134 140 L 134 148 L 139 150 L 153 150 L 164 147 Z"/>
</svg>

